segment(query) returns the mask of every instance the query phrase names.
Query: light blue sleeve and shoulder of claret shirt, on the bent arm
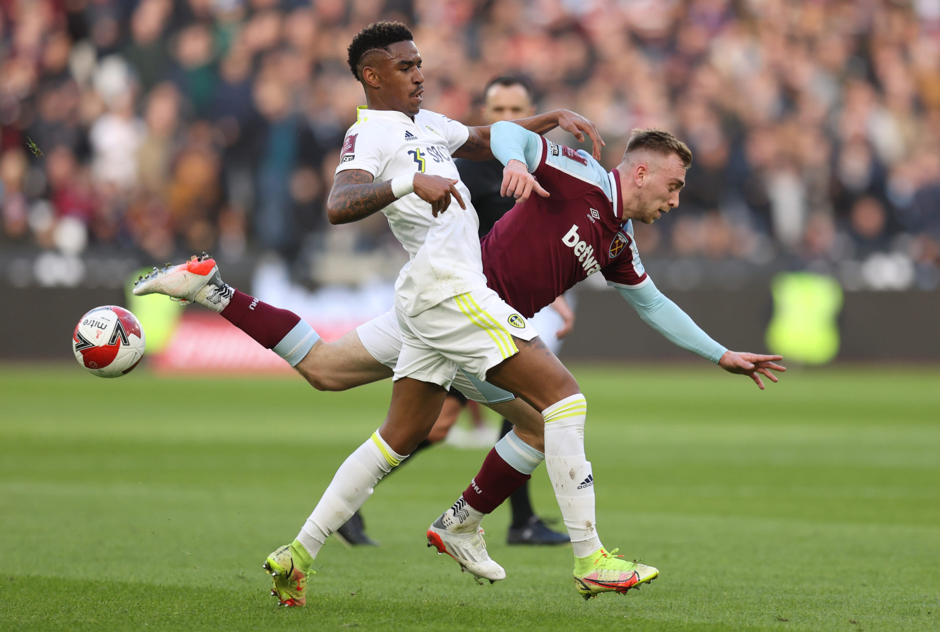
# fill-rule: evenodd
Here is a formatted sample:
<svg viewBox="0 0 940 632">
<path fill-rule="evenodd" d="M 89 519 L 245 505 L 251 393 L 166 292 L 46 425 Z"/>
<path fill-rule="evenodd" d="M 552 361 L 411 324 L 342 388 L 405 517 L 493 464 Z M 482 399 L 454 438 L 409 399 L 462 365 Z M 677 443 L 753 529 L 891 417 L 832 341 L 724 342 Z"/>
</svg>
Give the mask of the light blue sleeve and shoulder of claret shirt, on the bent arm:
<svg viewBox="0 0 940 632">
<path fill-rule="evenodd" d="M 607 171 L 583 149 L 575 151 L 571 147 L 557 145 L 509 121 L 493 123 L 490 147 L 493 156 L 503 164 L 511 160 L 525 162 L 531 174 L 536 173 L 540 166 L 548 164 L 569 176 L 600 187 L 608 198 L 613 199 L 613 185 Z M 550 182 L 542 183 L 546 188 L 550 185 Z"/>
</svg>

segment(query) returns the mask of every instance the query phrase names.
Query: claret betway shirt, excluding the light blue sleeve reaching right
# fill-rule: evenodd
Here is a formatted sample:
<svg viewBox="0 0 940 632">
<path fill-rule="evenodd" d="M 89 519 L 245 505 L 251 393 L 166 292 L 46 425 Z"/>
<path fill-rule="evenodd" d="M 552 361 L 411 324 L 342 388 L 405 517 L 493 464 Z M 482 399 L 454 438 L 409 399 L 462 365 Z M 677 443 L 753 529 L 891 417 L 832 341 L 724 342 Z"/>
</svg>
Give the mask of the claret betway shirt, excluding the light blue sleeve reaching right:
<svg viewBox="0 0 940 632">
<path fill-rule="evenodd" d="M 587 152 L 511 123 L 493 125 L 491 143 L 502 162 L 525 156 L 528 170 L 551 193 L 533 192 L 482 240 L 483 271 L 504 301 L 531 317 L 594 272 L 608 285 L 648 282 L 633 224 L 623 219 L 616 170 L 608 173 Z"/>
</svg>

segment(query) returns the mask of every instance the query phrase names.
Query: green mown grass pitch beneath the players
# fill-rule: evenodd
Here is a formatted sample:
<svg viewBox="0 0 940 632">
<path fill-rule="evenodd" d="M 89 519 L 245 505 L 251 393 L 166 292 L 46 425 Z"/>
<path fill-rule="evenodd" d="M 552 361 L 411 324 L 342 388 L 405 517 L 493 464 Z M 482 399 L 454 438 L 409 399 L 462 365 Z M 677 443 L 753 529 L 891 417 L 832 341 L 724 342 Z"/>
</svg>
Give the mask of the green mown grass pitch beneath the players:
<svg viewBox="0 0 940 632">
<path fill-rule="evenodd" d="M 434 448 L 324 547 L 305 609 L 260 566 L 384 416 L 389 383 L 93 378 L 0 368 L 0 629 L 936 630 L 940 370 L 574 367 L 607 547 L 661 569 L 584 602 L 570 548 L 508 547 L 478 586 L 424 546 L 485 451 Z M 558 516 L 543 469 L 537 510 Z"/>
</svg>

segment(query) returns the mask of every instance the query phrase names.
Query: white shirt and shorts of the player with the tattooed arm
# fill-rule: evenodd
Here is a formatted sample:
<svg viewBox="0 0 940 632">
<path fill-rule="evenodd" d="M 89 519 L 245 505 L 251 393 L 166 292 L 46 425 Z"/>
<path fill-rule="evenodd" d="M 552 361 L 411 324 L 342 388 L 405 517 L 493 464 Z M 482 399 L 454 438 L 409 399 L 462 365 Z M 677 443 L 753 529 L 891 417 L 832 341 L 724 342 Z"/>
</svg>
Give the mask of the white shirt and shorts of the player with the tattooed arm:
<svg viewBox="0 0 940 632">
<path fill-rule="evenodd" d="M 430 204 L 409 193 L 382 209 L 410 255 L 395 283 L 402 343 L 395 379 L 449 388 L 461 366 L 482 380 L 518 351 L 513 336 L 531 340 L 538 335 L 486 285 L 477 212 L 451 159 L 469 133 L 462 123 L 427 110 L 412 119 L 365 107 L 346 132 L 337 173 L 360 169 L 376 182 L 415 172 L 455 179 L 467 207 L 453 200 L 435 218 Z"/>
</svg>

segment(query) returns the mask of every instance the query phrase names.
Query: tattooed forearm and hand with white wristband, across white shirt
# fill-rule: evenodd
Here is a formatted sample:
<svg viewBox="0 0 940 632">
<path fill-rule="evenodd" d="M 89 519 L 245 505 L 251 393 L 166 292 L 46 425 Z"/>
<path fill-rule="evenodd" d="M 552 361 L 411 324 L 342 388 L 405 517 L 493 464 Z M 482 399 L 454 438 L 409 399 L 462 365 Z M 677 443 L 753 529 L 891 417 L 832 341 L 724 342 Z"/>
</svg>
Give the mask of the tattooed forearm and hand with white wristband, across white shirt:
<svg viewBox="0 0 940 632">
<path fill-rule="evenodd" d="M 457 180 L 418 173 L 385 182 L 373 182 L 373 179 L 372 174 L 362 169 L 347 169 L 337 174 L 326 200 L 326 216 L 330 224 L 349 224 L 365 219 L 408 193 L 416 193 L 430 204 L 434 217 L 450 206 L 451 196 L 457 198 L 461 208 L 466 208 L 455 186 Z"/>
</svg>

